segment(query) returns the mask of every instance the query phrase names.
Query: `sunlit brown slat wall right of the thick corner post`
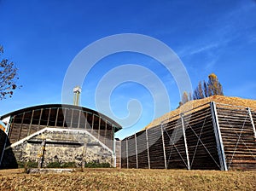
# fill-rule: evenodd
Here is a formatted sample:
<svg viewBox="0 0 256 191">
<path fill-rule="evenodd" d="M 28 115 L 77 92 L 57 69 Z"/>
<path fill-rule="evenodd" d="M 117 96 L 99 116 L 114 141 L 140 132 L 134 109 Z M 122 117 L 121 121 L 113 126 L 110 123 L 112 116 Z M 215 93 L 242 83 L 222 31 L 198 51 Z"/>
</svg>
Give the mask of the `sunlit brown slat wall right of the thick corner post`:
<svg viewBox="0 0 256 191">
<path fill-rule="evenodd" d="M 256 142 L 247 109 L 218 106 L 217 111 L 228 169 L 256 170 Z"/>
</svg>

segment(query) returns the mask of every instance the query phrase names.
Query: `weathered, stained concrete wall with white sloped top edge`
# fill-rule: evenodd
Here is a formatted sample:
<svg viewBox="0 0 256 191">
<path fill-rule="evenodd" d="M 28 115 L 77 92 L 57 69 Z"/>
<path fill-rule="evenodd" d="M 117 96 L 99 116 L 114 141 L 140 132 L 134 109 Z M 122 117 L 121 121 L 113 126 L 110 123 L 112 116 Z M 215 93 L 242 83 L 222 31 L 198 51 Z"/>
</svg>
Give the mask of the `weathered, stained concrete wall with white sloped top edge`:
<svg viewBox="0 0 256 191">
<path fill-rule="evenodd" d="M 41 142 L 46 140 L 43 167 L 51 162 L 109 163 L 113 165 L 113 151 L 86 130 L 46 128 L 40 134 L 11 146 L 18 162 L 36 161 L 42 154 Z"/>
</svg>

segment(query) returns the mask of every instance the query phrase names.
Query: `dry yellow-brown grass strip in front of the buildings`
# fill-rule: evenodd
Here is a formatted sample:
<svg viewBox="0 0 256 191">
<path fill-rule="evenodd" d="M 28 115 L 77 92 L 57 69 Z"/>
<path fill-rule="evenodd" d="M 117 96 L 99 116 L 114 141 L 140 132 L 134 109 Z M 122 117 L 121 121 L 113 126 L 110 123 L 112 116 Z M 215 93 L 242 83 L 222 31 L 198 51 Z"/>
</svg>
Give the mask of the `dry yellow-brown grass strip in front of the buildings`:
<svg viewBox="0 0 256 191">
<path fill-rule="evenodd" d="M 1 190 L 256 190 L 255 171 L 84 169 L 65 174 L 0 170 Z"/>
</svg>

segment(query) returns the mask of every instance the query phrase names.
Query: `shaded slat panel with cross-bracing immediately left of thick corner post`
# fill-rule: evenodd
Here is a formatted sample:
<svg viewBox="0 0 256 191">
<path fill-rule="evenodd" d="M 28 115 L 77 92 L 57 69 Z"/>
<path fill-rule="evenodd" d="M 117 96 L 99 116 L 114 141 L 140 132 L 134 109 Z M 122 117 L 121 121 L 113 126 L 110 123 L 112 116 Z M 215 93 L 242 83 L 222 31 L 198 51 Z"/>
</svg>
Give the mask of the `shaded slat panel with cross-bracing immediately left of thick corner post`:
<svg viewBox="0 0 256 191">
<path fill-rule="evenodd" d="M 184 124 L 190 168 L 220 170 L 210 107 L 184 116 Z"/>
</svg>

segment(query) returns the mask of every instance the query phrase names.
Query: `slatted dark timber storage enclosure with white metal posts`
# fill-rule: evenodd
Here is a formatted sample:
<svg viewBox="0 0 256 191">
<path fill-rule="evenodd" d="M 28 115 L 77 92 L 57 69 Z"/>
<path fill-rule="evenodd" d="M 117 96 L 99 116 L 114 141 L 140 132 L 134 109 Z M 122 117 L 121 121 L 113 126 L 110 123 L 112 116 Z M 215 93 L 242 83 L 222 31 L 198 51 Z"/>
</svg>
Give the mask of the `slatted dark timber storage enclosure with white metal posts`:
<svg viewBox="0 0 256 191">
<path fill-rule="evenodd" d="M 122 168 L 256 170 L 256 113 L 210 102 L 121 142 Z"/>
</svg>

